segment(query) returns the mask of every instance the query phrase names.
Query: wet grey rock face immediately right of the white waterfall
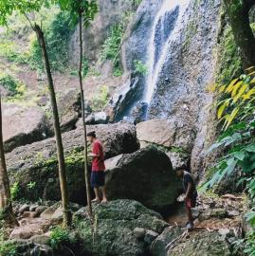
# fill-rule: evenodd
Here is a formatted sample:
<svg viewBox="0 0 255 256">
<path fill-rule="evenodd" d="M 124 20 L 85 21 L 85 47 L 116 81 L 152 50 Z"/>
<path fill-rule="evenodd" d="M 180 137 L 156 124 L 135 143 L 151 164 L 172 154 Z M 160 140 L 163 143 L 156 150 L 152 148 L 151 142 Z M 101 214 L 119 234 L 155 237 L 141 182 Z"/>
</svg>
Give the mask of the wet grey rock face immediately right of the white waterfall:
<svg viewBox="0 0 255 256">
<path fill-rule="evenodd" d="M 206 88 L 214 79 L 216 34 L 220 1 L 191 1 L 182 27 L 169 46 L 159 73 L 149 117 L 178 117 L 196 133 L 191 167 L 200 171 L 208 135 L 213 129 Z"/>
</svg>

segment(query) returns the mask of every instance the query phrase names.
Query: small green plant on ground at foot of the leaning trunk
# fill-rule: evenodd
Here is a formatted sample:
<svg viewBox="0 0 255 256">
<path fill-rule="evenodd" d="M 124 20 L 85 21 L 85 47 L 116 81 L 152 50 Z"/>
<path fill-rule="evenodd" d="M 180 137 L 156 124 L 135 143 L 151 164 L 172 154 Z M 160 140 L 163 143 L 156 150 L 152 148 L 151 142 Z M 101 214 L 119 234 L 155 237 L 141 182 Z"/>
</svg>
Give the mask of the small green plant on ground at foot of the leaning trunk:
<svg viewBox="0 0 255 256">
<path fill-rule="evenodd" d="M 51 230 L 49 245 L 54 249 L 60 249 L 76 243 L 76 239 L 70 235 L 70 230 L 60 226 Z"/>
</svg>

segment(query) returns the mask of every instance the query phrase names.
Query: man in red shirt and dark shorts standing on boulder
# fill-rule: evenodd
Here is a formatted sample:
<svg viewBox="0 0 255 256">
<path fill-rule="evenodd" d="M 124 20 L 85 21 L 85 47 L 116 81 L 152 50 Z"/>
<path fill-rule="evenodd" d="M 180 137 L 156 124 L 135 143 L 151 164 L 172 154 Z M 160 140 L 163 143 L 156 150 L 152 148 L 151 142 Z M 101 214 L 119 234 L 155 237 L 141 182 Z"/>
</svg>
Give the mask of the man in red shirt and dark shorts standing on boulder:
<svg viewBox="0 0 255 256">
<path fill-rule="evenodd" d="M 105 191 L 105 165 L 102 145 L 100 140 L 97 138 L 95 132 L 87 134 L 88 141 L 92 145 L 92 173 L 91 173 L 91 187 L 94 189 L 96 198 L 92 202 L 100 202 L 100 191 L 102 192 L 102 203 L 107 202 L 106 191 Z"/>
</svg>

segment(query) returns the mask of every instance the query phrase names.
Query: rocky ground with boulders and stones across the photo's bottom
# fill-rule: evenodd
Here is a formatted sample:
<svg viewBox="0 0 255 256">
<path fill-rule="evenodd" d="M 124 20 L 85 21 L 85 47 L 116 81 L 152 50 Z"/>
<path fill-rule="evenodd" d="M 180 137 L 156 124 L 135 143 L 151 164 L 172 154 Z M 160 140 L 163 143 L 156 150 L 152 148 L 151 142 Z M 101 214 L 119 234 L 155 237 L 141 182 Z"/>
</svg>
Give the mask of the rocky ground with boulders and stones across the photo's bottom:
<svg viewBox="0 0 255 256">
<path fill-rule="evenodd" d="M 28 255 L 28 251 L 42 255 L 233 255 L 232 244 L 242 237 L 244 200 L 244 195 L 237 194 L 200 195 L 192 231 L 184 228 L 182 204 L 166 219 L 133 200 L 94 204 L 93 225 L 86 209 L 72 204 L 74 228 L 70 233 L 77 241 L 64 254 L 60 254 L 64 244 L 59 250 L 49 247 L 51 227 L 63 219 L 61 204 L 16 204 L 20 227 L 9 230 L 9 239 L 25 251 L 18 255 Z"/>
</svg>

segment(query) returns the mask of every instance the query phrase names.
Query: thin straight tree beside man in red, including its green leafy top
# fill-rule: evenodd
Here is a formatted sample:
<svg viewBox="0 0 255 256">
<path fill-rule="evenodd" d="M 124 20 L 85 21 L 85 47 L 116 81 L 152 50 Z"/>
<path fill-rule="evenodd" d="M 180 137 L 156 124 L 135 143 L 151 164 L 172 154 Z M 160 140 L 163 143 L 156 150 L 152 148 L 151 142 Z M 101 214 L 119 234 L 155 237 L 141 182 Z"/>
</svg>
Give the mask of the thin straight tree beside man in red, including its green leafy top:
<svg viewBox="0 0 255 256">
<path fill-rule="evenodd" d="M 82 82 L 82 67 L 83 67 L 83 34 L 82 27 L 88 27 L 90 22 L 94 19 L 95 14 L 98 11 L 98 5 L 96 0 L 60 0 L 57 1 L 62 9 L 68 10 L 72 13 L 74 19 L 78 18 L 79 22 L 79 44 L 80 44 L 80 60 L 79 60 L 79 83 L 81 90 L 81 104 L 82 104 L 82 125 L 83 125 L 83 139 L 84 139 L 84 177 L 86 185 L 86 198 L 88 211 L 92 216 L 92 205 L 91 205 L 91 187 L 89 182 L 88 174 L 88 157 L 87 157 L 87 129 L 85 122 L 85 106 L 84 106 L 84 90 Z"/>
</svg>

